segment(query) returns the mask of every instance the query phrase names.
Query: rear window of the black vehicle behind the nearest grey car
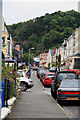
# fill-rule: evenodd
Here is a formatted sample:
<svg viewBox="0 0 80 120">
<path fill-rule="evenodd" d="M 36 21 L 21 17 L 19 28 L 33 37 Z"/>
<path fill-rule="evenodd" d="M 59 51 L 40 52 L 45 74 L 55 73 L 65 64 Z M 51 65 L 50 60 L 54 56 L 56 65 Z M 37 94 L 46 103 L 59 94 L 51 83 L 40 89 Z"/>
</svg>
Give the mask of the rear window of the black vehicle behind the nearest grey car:
<svg viewBox="0 0 80 120">
<path fill-rule="evenodd" d="M 58 80 L 75 79 L 75 78 L 77 78 L 77 75 L 75 73 L 59 73 L 57 75 Z"/>
</svg>

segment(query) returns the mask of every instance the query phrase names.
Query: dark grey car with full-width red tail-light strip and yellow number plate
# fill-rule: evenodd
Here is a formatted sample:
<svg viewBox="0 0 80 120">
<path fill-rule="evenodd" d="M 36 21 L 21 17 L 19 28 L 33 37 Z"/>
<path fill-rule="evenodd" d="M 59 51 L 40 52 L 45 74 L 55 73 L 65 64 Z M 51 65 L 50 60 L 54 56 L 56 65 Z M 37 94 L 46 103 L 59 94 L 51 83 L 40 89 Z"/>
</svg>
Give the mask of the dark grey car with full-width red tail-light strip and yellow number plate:
<svg viewBox="0 0 80 120">
<path fill-rule="evenodd" d="M 63 80 L 57 90 L 57 101 L 80 100 L 80 80 Z"/>
</svg>

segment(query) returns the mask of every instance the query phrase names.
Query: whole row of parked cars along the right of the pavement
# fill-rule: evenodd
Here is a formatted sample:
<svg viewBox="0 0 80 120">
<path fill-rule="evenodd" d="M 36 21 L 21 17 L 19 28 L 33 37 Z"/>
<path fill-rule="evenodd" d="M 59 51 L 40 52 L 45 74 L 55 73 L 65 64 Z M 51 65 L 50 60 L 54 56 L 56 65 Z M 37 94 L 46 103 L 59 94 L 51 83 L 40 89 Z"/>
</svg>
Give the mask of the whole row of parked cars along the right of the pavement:
<svg viewBox="0 0 80 120">
<path fill-rule="evenodd" d="M 76 71 L 67 70 L 54 73 L 39 69 L 37 77 L 44 87 L 51 87 L 51 95 L 58 103 L 80 100 L 80 80 Z"/>
</svg>

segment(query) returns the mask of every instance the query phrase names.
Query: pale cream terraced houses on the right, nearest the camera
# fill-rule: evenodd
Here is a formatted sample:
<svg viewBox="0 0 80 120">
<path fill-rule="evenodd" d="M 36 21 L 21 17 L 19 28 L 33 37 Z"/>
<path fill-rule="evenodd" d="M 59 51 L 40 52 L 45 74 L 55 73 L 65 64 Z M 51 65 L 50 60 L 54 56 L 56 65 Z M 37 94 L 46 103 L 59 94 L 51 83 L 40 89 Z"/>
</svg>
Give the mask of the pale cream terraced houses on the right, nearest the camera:
<svg viewBox="0 0 80 120">
<path fill-rule="evenodd" d="M 64 41 L 60 48 L 60 55 L 62 69 L 80 69 L 80 27 Z"/>
</svg>

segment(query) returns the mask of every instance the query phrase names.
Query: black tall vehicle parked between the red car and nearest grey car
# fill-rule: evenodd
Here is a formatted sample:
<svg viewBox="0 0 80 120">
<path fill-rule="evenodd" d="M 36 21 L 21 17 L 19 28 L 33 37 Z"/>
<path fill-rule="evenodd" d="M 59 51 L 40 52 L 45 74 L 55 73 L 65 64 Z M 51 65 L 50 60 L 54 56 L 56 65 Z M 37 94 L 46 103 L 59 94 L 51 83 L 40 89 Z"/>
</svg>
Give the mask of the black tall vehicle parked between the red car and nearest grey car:
<svg viewBox="0 0 80 120">
<path fill-rule="evenodd" d="M 74 80 L 74 79 L 77 79 L 78 76 L 76 74 L 76 72 L 74 71 L 60 71 L 60 72 L 57 72 L 56 75 L 55 75 L 55 78 L 54 80 L 52 81 L 52 84 L 51 84 L 51 95 L 56 98 L 56 95 L 57 95 L 57 89 L 59 88 L 59 85 L 61 83 L 62 80 Z"/>
</svg>

